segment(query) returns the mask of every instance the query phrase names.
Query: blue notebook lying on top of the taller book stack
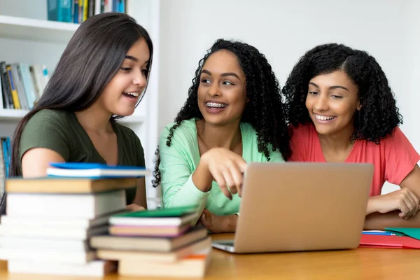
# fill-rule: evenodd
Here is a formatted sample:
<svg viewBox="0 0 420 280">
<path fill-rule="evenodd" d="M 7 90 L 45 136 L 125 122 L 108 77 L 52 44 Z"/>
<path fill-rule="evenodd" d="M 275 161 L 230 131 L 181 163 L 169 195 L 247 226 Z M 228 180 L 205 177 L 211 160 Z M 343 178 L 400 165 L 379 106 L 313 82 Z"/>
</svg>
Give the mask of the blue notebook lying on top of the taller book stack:
<svg viewBox="0 0 420 280">
<path fill-rule="evenodd" d="M 143 177 L 150 172 L 145 167 L 126 165 L 105 165 L 89 162 L 52 162 L 47 169 L 48 176 L 78 178 L 120 178 Z"/>
</svg>

